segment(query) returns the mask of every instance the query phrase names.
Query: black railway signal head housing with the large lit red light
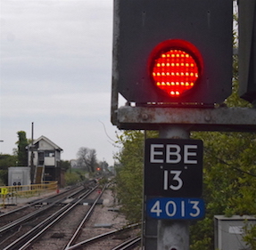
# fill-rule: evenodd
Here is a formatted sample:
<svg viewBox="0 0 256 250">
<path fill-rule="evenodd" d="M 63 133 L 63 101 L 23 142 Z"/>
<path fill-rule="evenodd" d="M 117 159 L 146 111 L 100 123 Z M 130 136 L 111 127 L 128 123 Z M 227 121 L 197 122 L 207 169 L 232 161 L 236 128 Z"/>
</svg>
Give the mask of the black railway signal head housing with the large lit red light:
<svg viewBox="0 0 256 250">
<path fill-rule="evenodd" d="M 232 1 L 114 3 L 112 85 L 128 102 L 212 105 L 230 95 Z"/>
</svg>

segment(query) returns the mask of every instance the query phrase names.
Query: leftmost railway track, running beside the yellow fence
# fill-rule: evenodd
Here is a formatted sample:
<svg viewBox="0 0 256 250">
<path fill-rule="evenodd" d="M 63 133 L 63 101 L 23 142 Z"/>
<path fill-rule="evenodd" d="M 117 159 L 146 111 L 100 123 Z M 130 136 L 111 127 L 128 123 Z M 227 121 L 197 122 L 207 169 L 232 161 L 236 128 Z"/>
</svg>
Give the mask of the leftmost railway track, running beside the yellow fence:
<svg viewBox="0 0 256 250">
<path fill-rule="evenodd" d="M 95 189 L 96 187 L 93 190 Z M 22 242 L 25 242 L 28 238 L 33 238 L 33 234 L 35 234 L 37 230 L 42 230 L 47 224 L 47 221 L 50 223 L 51 220 L 54 220 L 60 214 L 65 213 L 65 211 L 70 211 L 70 207 L 72 208 L 74 200 L 77 200 L 77 202 L 81 201 L 93 190 L 84 190 L 83 187 L 80 187 L 77 190 L 71 190 L 71 192 L 64 193 L 61 196 L 48 198 L 48 205 L 42 206 L 39 209 L 37 208 L 32 212 L 30 211 L 29 214 L 24 212 L 24 210 L 27 210 L 27 206 L 21 207 L 21 209 L 16 209 L 12 213 L 4 214 L 2 217 L 8 218 L 8 220 L 5 218 L 5 222 L 8 222 L 9 220 L 11 222 L 5 223 L 4 226 L 0 228 L 1 249 L 18 249 Z M 67 198 L 71 198 L 70 200 L 72 203 L 64 204 L 64 201 L 67 200 Z M 38 204 L 40 201 L 36 201 L 35 203 Z M 16 220 L 12 220 L 13 214 L 15 217 L 16 214 L 22 214 L 23 216 Z M 11 243 L 9 244 L 9 242 Z"/>
</svg>

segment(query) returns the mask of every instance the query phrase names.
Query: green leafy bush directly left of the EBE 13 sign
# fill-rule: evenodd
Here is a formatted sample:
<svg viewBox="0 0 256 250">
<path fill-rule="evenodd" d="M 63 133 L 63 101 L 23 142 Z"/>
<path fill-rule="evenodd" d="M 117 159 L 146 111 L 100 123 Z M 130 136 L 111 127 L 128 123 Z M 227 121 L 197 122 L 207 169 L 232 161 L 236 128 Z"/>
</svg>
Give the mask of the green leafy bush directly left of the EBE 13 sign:
<svg viewBox="0 0 256 250">
<path fill-rule="evenodd" d="M 149 133 L 148 136 L 155 136 Z M 116 168 L 116 195 L 121 211 L 129 222 L 140 222 L 143 206 L 143 166 L 145 133 L 126 131 L 118 137 L 121 146 L 116 155 L 120 165 Z"/>
</svg>

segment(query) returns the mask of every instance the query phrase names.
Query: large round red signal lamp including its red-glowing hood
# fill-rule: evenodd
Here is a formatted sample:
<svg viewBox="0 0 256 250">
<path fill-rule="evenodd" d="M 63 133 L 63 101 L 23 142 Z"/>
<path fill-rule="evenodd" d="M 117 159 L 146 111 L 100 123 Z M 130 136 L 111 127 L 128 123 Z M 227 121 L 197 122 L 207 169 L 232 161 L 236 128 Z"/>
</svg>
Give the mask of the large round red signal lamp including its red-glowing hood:
<svg viewBox="0 0 256 250">
<path fill-rule="evenodd" d="M 150 57 L 153 85 L 171 97 L 193 90 L 202 76 L 202 56 L 185 40 L 167 40 L 158 44 Z"/>
</svg>

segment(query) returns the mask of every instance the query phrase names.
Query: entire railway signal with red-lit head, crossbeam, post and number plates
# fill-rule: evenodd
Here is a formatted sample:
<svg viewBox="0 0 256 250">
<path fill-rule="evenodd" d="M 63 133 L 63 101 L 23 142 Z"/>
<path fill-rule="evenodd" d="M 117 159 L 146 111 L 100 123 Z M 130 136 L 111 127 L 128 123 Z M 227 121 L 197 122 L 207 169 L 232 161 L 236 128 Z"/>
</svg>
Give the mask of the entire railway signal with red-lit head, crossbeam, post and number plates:
<svg viewBox="0 0 256 250">
<path fill-rule="evenodd" d="M 256 131 L 255 109 L 220 105 L 232 92 L 232 9 L 229 0 L 114 0 L 111 122 L 160 132 L 145 141 L 145 250 L 188 250 L 189 222 L 204 216 L 202 141 L 190 132 Z M 243 86 L 255 101 L 255 86 Z"/>
</svg>

